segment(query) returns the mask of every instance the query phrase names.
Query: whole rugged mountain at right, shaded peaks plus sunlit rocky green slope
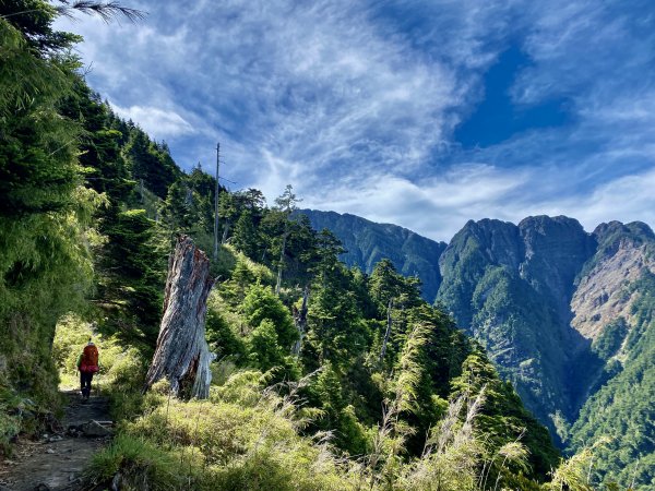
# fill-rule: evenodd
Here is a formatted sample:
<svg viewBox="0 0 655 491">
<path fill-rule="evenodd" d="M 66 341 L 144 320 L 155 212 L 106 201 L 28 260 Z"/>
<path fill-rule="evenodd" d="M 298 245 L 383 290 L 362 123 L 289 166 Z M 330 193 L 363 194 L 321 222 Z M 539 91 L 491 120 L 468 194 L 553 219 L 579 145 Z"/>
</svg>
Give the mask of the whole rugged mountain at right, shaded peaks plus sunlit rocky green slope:
<svg viewBox="0 0 655 491">
<path fill-rule="evenodd" d="M 332 230 L 346 233 L 330 216 Z M 655 479 L 654 247 L 643 223 L 588 233 L 562 216 L 483 219 L 468 221 L 438 260 L 437 301 L 480 340 L 560 444 L 580 450 L 615 434 L 600 468 L 623 484 L 629 462 L 635 482 Z"/>
</svg>

